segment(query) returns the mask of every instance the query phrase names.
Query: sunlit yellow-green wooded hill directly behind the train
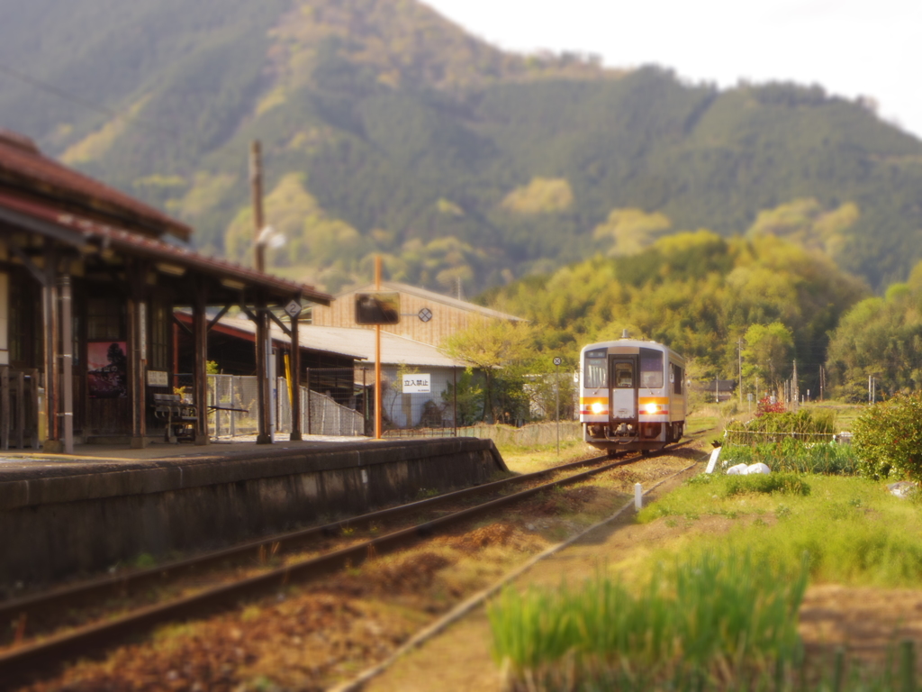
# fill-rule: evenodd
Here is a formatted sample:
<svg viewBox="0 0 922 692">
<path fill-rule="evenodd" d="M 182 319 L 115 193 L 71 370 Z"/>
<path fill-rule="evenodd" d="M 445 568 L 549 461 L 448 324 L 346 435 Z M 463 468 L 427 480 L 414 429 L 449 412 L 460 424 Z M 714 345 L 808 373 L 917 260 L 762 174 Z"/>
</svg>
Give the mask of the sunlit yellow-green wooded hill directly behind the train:
<svg viewBox="0 0 922 692">
<path fill-rule="evenodd" d="M 692 359 L 695 377 L 737 379 L 739 346 L 753 376 L 780 386 L 797 359 L 801 389 L 816 393 L 829 333 L 866 295 L 860 281 L 799 244 L 699 231 L 662 238 L 632 257 L 596 257 L 517 280 L 481 300 L 541 325 L 538 347 L 571 363 L 585 344 L 617 340 L 628 329 Z M 785 343 L 769 367 L 759 341 L 773 331 Z"/>
</svg>

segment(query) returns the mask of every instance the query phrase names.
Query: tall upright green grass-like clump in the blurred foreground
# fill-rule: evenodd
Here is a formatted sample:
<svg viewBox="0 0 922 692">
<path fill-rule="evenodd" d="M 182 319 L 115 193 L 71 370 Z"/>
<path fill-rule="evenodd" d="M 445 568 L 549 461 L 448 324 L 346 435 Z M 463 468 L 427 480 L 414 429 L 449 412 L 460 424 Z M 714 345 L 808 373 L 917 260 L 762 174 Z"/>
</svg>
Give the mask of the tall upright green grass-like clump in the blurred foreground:
<svg viewBox="0 0 922 692">
<path fill-rule="evenodd" d="M 597 576 L 577 589 L 507 589 L 493 653 L 522 689 L 734 686 L 795 659 L 807 563 L 711 552 L 657 570 L 639 591 Z"/>
</svg>

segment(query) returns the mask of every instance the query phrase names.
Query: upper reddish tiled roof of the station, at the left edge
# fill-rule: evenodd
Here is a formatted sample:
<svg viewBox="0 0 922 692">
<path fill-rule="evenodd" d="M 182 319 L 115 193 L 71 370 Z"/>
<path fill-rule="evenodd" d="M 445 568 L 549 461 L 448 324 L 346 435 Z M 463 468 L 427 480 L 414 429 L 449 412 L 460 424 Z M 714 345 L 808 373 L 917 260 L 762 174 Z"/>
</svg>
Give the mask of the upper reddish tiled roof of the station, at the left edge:
<svg viewBox="0 0 922 692">
<path fill-rule="evenodd" d="M 82 212 L 160 236 L 188 240 L 192 229 L 134 197 L 44 156 L 28 137 L 0 129 L 0 186 L 39 197 L 60 210 Z"/>
</svg>

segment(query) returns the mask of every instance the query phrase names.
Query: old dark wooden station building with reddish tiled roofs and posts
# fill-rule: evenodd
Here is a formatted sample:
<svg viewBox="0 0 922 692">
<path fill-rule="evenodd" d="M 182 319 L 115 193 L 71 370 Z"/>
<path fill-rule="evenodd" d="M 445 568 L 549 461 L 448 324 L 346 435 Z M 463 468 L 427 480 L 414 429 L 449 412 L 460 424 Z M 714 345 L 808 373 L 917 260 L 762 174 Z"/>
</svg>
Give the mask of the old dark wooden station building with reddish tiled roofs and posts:
<svg viewBox="0 0 922 692">
<path fill-rule="evenodd" d="M 0 447 L 35 447 L 40 427 L 45 451 L 106 437 L 144 447 L 159 436 L 153 395 L 172 392 L 174 308 L 192 313 L 195 442 L 207 444 L 207 332 L 232 306 L 255 323 L 257 442 L 271 440 L 269 321 L 290 333 L 297 361 L 298 320 L 277 314 L 330 296 L 196 254 L 177 242 L 191 234 L 0 130 Z M 209 307 L 219 310 L 210 319 Z M 297 387 L 301 368 L 291 370 Z M 291 438 L 301 439 L 293 419 Z"/>
</svg>

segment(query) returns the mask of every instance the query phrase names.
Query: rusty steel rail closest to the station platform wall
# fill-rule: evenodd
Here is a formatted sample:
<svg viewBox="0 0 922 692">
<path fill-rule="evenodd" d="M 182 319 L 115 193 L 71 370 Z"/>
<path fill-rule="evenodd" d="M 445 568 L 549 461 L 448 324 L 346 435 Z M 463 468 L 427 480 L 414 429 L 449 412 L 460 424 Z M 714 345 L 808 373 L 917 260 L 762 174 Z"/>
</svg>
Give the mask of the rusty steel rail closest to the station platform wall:
<svg viewBox="0 0 922 692">
<path fill-rule="evenodd" d="M 113 592 L 121 596 L 126 596 L 130 591 L 143 589 L 152 583 L 162 584 L 165 579 L 179 576 L 181 573 L 189 570 L 208 567 L 229 560 L 239 560 L 253 556 L 258 557 L 269 552 L 275 555 L 282 550 L 301 547 L 306 543 L 320 538 L 335 537 L 339 535 L 344 528 L 352 525 L 364 525 L 371 524 L 374 521 L 394 519 L 401 515 L 428 509 L 444 502 L 451 502 L 453 500 L 465 499 L 472 495 L 494 492 L 507 485 L 526 483 L 557 471 L 578 468 L 586 464 L 596 463 L 603 459 L 607 458 L 605 456 L 600 456 L 582 459 L 580 461 L 570 461 L 558 466 L 552 466 L 550 469 L 523 473 L 522 475 L 504 478 L 500 481 L 493 481 L 491 483 L 473 485 L 469 488 L 428 497 L 424 500 L 398 505 L 397 507 L 389 507 L 387 509 L 368 512 L 356 517 L 350 517 L 349 519 L 340 519 L 322 526 L 313 526 L 308 529 L 296 531 L 285 531 L 283 533 L 264 536 L 246 543 L 238 543 L 237 545 L 231 545 L 227 548 L 175 560 L 156 567 L 148 567 L 126 572 L 124 574 L 105 575 L 97 579 L 88 579 L 86 581 L 69 584 L 54 589 L 53 591 L 43 591 L 30 596 L 0 602 L 0 622 L 16 619 L 23 614 L 26 614 L 27 617 L 33 616 L 36 612 L 52 609 L 62 603 L 73 605 L 76 601 L 89 600 L 93 597 L 108 597 L 112 595 Z"/>
</svg>

